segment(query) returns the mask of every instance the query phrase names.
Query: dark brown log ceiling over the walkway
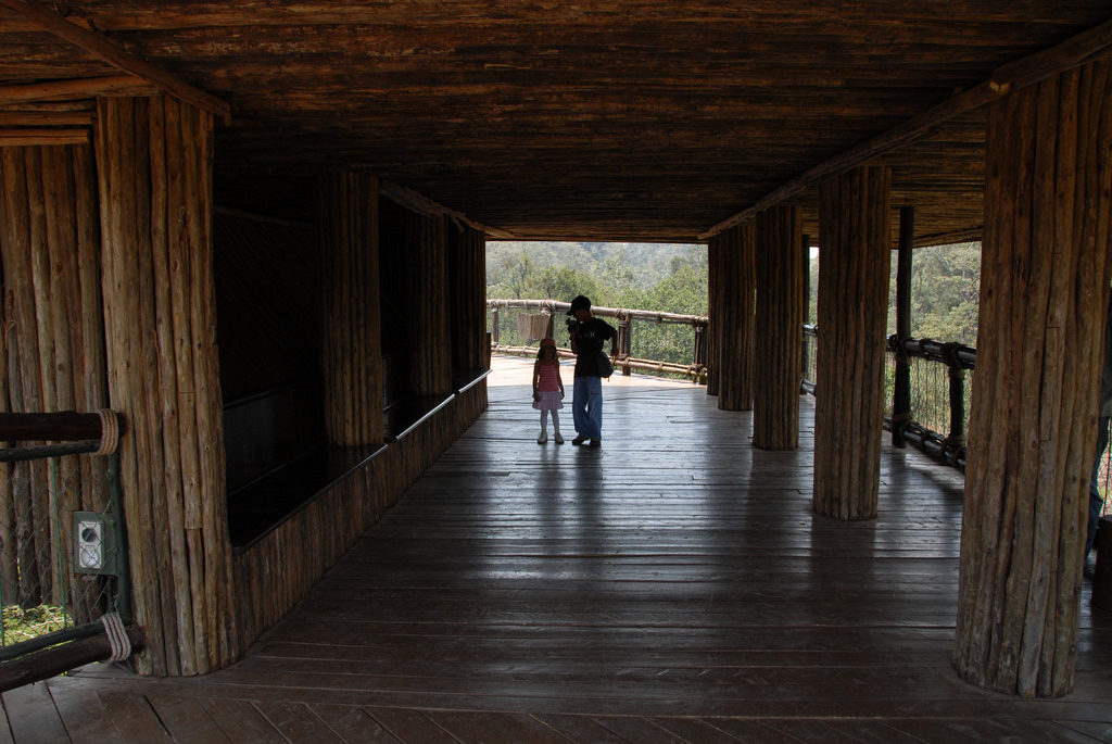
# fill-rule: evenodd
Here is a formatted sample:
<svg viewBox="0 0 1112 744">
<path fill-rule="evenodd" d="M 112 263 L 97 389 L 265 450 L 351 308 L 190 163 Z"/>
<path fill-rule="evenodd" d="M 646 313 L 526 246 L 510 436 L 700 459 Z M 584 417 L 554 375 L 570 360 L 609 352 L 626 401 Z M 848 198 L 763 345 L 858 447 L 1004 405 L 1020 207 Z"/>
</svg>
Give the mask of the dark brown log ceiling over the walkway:
<svg viewBox="0 0 1112 744">
<path fill-rule="evenodd" d="M 229 198 L 355 167 L 494 235 L 673 241 L 1112 18 L 1096 0 L 0 0 L 9 135 L 75 126 L 12 86 L 120 76 L 28 6 L 225 101 Z M 977 235 L 982 119 L 872 159 L 919 242 Z M 790 198 L 814 230 L 813 189 Z"/>
</svg>

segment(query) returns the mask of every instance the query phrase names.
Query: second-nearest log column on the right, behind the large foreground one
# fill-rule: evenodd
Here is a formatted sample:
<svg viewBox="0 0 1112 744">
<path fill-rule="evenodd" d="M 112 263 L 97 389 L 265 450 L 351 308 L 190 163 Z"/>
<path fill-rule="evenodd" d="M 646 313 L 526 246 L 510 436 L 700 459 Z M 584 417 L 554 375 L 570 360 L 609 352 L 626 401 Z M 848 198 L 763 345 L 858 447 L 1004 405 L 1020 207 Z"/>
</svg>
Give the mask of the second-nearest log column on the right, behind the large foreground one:
<svg viewBox="0 0 1112 744">
<path fill-rule="evenodd" d="M 871 167 L 820 188 L 814 509 L 837 519 L 876 516 L 891 182 Z"/>
</svg>

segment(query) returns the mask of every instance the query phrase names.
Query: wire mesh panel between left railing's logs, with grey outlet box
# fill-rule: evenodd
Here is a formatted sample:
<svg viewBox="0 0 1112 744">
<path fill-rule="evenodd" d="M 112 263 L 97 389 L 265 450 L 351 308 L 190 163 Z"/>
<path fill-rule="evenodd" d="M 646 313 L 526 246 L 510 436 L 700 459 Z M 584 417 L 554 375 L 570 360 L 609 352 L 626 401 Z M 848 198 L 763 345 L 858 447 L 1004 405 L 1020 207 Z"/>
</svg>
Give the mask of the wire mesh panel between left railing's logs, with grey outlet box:
<svg viewBox="0 0 1112 744">
<path fill-rule="evenodd" d="M 0 646 L 126 614 L 116 456 L 0 455 Z"/>
</svg>

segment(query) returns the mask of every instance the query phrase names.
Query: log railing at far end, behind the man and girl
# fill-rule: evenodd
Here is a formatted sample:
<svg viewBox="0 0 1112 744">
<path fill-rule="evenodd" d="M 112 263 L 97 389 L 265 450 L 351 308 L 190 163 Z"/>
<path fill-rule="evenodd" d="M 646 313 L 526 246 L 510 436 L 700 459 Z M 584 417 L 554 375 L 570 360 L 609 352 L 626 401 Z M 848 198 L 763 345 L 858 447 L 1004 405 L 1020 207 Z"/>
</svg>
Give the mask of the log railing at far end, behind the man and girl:
<svg viewBox="0 0 1112 744">
<path fill-rule="evenodd" d="M 569 302 L 552 299 L 488 299 L 490 350 L 499 354 L 534 355 L 537 349 L 535 346 L 527 346 L 527 341 L 553 338 L 556 339 L 560 356 L 573 357 L 570 348 L 560 344 L 568 338 L 564 320 L 570 307 Z M 514 310 L 518 313 L 515 314 Z M 618 331 L 618 355 L 615 369 L 620 369 L 622 374 L 628 375 L 637 370 L 688 377 L 695 383 L 706 381 L 706 316 L 613 307 L 592 307 L 590 313 L 600 318 L 616 320 L 614 325 Z M 510 320 L 509 317 L 515 319 Z M 638 338 L 647 338 L 654 333 L 649 330 L 651 327 L 673 326 L 677 333 L 683 333 L 684 326 L 691 328 L 693 336 L 689 341 L 689 355 L 686 359 L 635 357 L 633 355 L 635 321 L 643 327 Z"/>
</svg>

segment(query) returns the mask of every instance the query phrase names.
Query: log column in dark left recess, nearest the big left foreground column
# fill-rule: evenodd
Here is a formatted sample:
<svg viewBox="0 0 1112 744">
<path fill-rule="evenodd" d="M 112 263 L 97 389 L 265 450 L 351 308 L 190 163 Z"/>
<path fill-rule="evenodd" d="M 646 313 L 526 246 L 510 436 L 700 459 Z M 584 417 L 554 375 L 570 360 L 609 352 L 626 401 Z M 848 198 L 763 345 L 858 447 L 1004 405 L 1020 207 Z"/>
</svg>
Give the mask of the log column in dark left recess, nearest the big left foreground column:
<svg viewBox="0 0 1112 744">
<path fill-rule="evenodd" d="M 334 445 L 381 444 L 378 179 L 329 173 L 320 177 L 317 192 L 325 426 Z"/>
</svg>

